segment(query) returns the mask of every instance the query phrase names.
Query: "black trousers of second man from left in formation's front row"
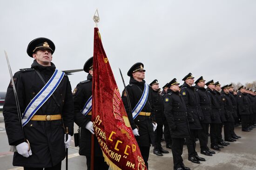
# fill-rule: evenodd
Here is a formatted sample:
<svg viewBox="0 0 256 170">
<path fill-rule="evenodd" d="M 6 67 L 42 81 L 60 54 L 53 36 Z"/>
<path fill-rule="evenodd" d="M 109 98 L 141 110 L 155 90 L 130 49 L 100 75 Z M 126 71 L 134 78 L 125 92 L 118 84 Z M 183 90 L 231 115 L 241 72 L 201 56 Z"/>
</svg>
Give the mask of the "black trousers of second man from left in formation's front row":
<svg viewBox="0 0 256 170">
<path fill-rule="evenodd" d="M 198 130 L 190 129 L 190 138 L 186 138 L 189 157 L 197 156 L 197 152 L 195 151 L 195 135 Z"/>
</svg>

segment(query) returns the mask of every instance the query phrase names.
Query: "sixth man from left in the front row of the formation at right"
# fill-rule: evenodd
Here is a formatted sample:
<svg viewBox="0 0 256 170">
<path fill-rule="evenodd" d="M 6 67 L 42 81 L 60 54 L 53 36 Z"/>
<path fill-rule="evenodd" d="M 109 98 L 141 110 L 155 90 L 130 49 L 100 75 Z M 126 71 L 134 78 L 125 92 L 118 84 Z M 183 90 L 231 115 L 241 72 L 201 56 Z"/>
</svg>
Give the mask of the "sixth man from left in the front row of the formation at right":
<svg viewBox="0 0 256 170">
<path fill-rule="evenodd" d="M 221 92 L 222 102 L 224 104 L 224 111 L 226 120 L 224 122 L 224 139 L 232 140 L 232 128 L 235 122 L 233 117 L 233 103 L 229 94 L 229 85 L 222 86 Z"/>
</svg>

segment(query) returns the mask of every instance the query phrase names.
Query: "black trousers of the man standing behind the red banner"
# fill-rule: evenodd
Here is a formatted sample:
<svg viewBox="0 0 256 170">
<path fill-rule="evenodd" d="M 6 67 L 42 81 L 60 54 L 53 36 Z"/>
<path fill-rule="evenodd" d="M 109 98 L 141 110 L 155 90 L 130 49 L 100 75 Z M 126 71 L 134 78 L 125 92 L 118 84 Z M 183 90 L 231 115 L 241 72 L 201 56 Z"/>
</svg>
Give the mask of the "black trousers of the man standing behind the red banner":
<svg viewBox="0 0 256 170">
<path fill-rule="evenodd" d="M 87 170 L 91 170 L 91 157 L 86 156 Z M 104 161 L 104 157 L 94 157 L 94 170 L 108 170 L 108 164 Z"/>
</svg>

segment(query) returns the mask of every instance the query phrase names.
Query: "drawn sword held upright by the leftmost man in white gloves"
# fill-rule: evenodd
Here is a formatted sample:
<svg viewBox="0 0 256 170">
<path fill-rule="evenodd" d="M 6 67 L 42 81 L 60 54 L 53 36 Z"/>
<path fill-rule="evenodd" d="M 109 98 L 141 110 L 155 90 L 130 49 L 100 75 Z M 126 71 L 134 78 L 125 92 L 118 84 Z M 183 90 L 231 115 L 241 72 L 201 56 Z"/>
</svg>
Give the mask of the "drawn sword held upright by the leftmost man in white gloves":
<svg viewBox="0 0 256 170">
<path fill-rule="evenodd" d="M 19 118 L 20 126 L 22 128 L 23 134 L 25 135 L 24 129 L 23 129 L 23 126 L 22 126 L 22 123 L 21 123 L 21 113 L 20 113 L 20 104 L 19 104 L 18 94 L 17 94 L 16 87 L 15 87 L 15 84 L 14 84 L 13 73 L 12 73 L 12 69 L 11 69 L 10 62 L 9 62 L 9 59 L 8 59 L 6 51 L 5 51 L 5 57 L 6 57 L 6 61 L 7 61 L 7 65 L 8 65 L 8 69 L 9 69 L 9 73 L 10 73 L 10 77 L 11 77 L 11 82 L 12 82 L 12 85 L 13 85 L 13 93 L 14 93 L 16 107 L 17 107 L 17 111 L 18 111 L 18 118 Z M 29 145 L 29 142 L 28 142 L 27 139 L 26 139 L 26 141 L 28 143 L 28 151 L 29 151 L 30 150 L 30 145 Z M 17 152 L 16 146 L 11 145 L 10 151 Z"/>
</svg>

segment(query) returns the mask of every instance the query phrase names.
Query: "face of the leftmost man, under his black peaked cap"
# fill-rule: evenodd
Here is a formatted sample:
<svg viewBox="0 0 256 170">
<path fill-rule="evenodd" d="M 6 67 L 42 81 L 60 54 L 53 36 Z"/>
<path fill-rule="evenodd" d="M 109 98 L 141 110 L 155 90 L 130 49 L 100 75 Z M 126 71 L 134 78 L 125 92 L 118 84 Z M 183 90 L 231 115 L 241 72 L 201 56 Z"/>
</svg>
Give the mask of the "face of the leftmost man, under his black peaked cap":
<svg viewBox="0 0 256 170">
<path fill-rule="evenodd" d="M 43 66 L 51 66 L 51 61 L 53 59 L 51 50 L 42 49 L 38 50 L 33 54 L 33 58 Z"/>
</svg>

